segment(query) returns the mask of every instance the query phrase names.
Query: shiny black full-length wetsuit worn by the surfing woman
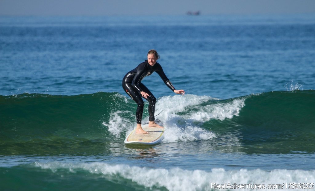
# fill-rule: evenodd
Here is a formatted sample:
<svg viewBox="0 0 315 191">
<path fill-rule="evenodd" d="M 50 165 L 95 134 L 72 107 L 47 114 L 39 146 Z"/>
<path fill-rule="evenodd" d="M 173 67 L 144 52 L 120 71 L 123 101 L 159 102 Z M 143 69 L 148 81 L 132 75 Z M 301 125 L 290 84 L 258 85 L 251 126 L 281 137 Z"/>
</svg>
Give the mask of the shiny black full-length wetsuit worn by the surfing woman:
<svg viewBox="0 0 315 191">
<path fill-rule="evenodd" d="M 138 124 L 141 124 L 144 105 L 144 102 L 141 98 L 142 95 L 140 94 L 141 91 L 144 91 L 150 95 L 146 98 L 146 100 L 149 102 L 149 121 L 154 121 L 156 98 L 151 93 L 151 91 L 148 90 L 146 86 L 141 83 L 141 80 L 144 77 L 151 75 L 153 72 L 157 72 L 157 74 L 159 74 L 159 76 L 163 79 L 164 83 L 169 87 L 169 89 L 171 89 L 172 91 L 175 90 L 172 83 L 164 74 L 163 69 L 159 63 L 155 63 L 154 66 L 151 66 L 146 60 L 145 62 L 140 63 L 137 68 L 131 70 L 123 77 L 123 89 L 138 105 L 136 111 Z"/>
</svg>

